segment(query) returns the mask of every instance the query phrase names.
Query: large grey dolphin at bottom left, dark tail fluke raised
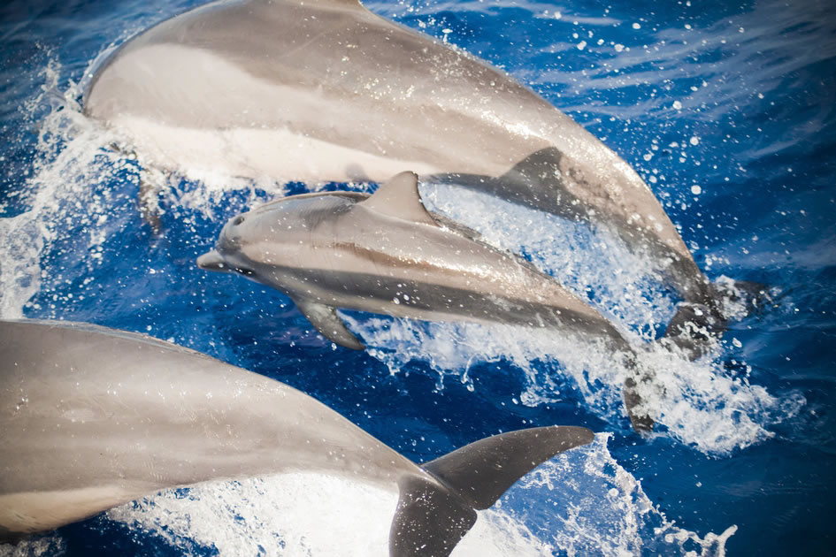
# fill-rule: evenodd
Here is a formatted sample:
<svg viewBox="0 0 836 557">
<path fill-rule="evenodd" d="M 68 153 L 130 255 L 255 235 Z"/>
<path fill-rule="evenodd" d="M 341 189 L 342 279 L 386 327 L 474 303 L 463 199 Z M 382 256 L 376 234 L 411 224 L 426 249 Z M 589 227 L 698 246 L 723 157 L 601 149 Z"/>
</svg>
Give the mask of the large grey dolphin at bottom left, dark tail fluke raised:
<svg viewBox="0 0 836 557">
<path fill-rule="evenodd" d="M 443 557 L 517 479 L 593 439 L 511 431 L 422 465 L 270 378 L 131 332 L 0 321 L 0 537 L 178 485 L 321 471 L 398 492 L 389 554 Z"/>
</svg>

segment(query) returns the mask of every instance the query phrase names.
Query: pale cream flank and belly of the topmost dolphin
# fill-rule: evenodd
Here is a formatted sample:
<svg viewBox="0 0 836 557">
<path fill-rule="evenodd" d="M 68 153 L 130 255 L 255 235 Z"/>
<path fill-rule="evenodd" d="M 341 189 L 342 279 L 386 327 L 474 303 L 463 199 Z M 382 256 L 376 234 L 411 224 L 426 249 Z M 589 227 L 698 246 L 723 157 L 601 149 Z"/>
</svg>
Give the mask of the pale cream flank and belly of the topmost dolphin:
<svg viewBox="0 0 836 557">
<path fill-rule="evenodd" d="M 170 96 L 182 95 L 171 84 L 181 80 L 211 95 L 195 99 L 185 110 L 171 107 Z M 109 66 L 93 91 L 86 103 L 88 115 L 107 121 L 142 156 L 169 169 L 311 183 L 379 179 L 403 168 L 439 170 L 407 153 L 393 156 L 334 141 L 324 132 L 311 134 L 294 118 L 307 114 L 311 125 L 318 118 L 319 128 L 351 121 L 360 128 L 369 122 L 357 120 L 357 107 L 258 79 L 211 51 L 176 44 L 128 51 L 119 64 Z M 140 105 L 144 110 L 134 110 Z"/>
</svg>

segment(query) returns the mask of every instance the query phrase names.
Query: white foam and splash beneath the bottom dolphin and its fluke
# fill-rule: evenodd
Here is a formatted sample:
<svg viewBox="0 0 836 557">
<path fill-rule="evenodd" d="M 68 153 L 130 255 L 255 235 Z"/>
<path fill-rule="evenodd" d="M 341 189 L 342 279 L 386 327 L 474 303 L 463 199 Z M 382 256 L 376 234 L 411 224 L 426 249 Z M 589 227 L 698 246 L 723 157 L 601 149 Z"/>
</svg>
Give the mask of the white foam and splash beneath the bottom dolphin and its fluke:
<svg viewBox="0 0 836 557">
<path fill-rule="evenodd" d="M 479 512 L 453 555 L 725 554 L 735 526 L 702 537 L 679 528 L 613 459 L 608 439 L 598 434 L 592 445 L 557 456 L 512 486 Z M 213 547 L 225 556 L 383 557 L 396 502 L 395 491 L 295 473 L 165 491 L 107 516 L 171 546 Z M 49 539 L 60 546 L 59 538 Z"/>
</svg>

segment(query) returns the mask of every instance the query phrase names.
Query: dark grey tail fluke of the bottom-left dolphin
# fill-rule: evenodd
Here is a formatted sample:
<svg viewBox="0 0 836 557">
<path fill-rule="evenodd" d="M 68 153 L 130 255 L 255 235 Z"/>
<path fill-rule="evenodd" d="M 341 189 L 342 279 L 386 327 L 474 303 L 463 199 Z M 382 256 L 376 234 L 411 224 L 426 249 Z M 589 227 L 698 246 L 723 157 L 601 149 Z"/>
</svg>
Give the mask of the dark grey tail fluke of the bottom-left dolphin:
<svg viewBox="0 0 836 557">
<path fill-rule="evenodd" d="M 510 431 L 426 462 L 422 468 L 438 483 L 418 476 L 399 483 L 390 557 L 447 557 L 476 523 L 477 510 L 491 507 L 542 462 L 593 439 L 583 427 Z"/>
</svg>

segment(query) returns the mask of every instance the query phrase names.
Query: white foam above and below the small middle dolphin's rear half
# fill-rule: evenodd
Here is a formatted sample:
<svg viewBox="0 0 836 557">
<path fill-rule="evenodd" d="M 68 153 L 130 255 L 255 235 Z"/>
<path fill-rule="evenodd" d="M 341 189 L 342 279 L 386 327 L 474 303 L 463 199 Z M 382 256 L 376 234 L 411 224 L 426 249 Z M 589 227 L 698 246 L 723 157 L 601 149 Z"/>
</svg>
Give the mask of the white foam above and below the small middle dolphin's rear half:
<svg viewBox="0 0 836 557">
<path fill-rule="evenodd" d="M 667 434 L 707 454 L 728 454 L 771 437 L 769 426 L 794 416 L 804 403 L 792 394 L 778 400 L 745 377 L 731 377 L 722 367 L 719 343 L 691 362 L 652 341 L 671 318 L 674 301 L 648 259 L 609 234 L 457 187 L 425 186 L 422 194 L 434 210 L 471 226 L 495 247 L 528 254 L 608 315 L 631 341 L 640 366 L 654 376 L 640 386 L 642 399 Z M 731 281 L 720 283 L 732 293 Z M 742 302 L 731 296 L 723 309 L 728 317 L 745 315 Z M 626 423 L 621 391 L 630 370 L 591 340 L 502 324 L 347 320 L 392 373 L 424 362 L 439 374 L 440 387 L 445 378 L 457 378 L 472 388 L 474 364 L 508 362 L 525 378 L 523 403 L 580 397 L 598 416 Z"/>
</svg>

